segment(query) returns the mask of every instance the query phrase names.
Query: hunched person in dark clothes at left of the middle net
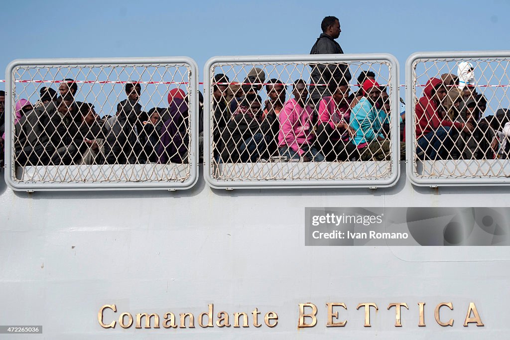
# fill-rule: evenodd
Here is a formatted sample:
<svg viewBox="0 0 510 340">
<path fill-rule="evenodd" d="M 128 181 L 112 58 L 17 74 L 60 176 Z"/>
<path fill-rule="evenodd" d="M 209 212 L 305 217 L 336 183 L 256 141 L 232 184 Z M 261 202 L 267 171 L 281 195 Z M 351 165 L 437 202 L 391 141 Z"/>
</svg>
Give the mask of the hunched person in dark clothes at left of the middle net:
<svg viewBox="0 0 510 340">
<path fill-rule="evenodd" d="M 248 109 L 239 111 L 228 121 L 221 136 L 225 141 L 225 148 L 221 152 L 223 163 L 254 163 L 267 154 L 273 140 L 270 129 L 276 115 L 271 110 L 262 118 L 261 105 L 259 95 L 247 95 L 241 106 Z"/>
</svg>

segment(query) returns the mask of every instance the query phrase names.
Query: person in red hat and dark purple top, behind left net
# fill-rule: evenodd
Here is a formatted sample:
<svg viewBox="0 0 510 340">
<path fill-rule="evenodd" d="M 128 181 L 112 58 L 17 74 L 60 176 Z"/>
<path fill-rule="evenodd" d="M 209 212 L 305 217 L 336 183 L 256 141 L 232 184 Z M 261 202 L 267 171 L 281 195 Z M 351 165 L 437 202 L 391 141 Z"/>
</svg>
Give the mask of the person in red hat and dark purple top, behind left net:
<svg viewBox="0 0 510 340">
<path fill-rule="evenodd" d="M 161 129 L 161 143 L 158 147 L 159 163 L 188 163 L 188 118 L 189 108 L 182 89 L 172 89 L 168 94 L 168 111 Z"/>
</svg>

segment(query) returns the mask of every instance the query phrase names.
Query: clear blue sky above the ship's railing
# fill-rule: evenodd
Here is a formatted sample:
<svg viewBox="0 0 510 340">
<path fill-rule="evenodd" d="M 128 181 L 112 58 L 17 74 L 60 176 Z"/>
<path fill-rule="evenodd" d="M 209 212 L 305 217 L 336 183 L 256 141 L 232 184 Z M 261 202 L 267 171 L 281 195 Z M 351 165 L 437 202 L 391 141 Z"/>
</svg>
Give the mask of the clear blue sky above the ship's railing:
<svg viewBox="0 0 510 340">
<path fill-rule="evenodd" d="M 340 18 L 337 41 L 345 53 L 391 53 L 401 68 L 416 51 L 508 49 L 509 41 L 510 2 L 502 0 L 47 0 L 1 6 L 3 70 L 17 58 L 183 55 L 202 68 L 212 56 L 308 54 L 326 15 Z"/>
</svg>

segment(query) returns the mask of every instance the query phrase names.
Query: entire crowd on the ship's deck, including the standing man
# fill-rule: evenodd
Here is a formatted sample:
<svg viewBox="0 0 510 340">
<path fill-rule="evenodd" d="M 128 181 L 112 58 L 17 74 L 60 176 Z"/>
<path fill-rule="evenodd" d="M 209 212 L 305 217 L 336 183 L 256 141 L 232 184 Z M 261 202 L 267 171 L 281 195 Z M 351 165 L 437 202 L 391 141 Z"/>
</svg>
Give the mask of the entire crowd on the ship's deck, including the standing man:
<svg viewBox="0 0 510 340">
<path fill-rule="evenodd" d="M 311 54 L 342 54 L 335 41 L 338 18 L 325 17 Z M 391 156 L 391 105 L 377 74 L 362 71 L 351 90 L 344 63 L 311 65 L 310 79 L 266 81 L 253 67 L 242 83 L 214 76 L 212 96 L 213 157 L 218 163 L 261 160 L 336 162 L 381 161 Z M 261 98 L 265 88 L 267 100 Z M 75 100 L 78 84 L 60 82 L 58 91 L 40 89 L 40 100 L 15 103 L 15 161 L 25 165 L 187 163 L 189 96 L 168 93 L 168 107 L 144 111 L 142 84 L 127 82 L 126 98 L 112 115 L 99 117 L 94 103 Z M 199 96 L 199 146 L 203 150 L 203 97 Z M 5 92 L 0 91 L 1 134 L 5 139 Z M 457 75 L 431 78 L 416 102 L 417 154 L 420 159 L 508 158 L 510 112 L 486 116 L 487 99 L 473 85 L 473 66 L 463 62 Z M 405 159 L 405 113 L 399 115 L 399 145 Z M 2 147 L 3 147 L 2 140 Z"/>
</svg>

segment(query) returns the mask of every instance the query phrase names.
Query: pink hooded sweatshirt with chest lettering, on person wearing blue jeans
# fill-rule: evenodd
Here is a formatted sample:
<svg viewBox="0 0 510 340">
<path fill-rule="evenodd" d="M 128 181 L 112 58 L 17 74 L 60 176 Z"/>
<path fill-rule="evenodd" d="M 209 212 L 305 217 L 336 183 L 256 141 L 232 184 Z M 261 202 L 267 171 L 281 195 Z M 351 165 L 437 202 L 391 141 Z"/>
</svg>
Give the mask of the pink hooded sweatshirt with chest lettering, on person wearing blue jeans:
<svg viewBox="0 0 510 340">
<path fill-rule="evenodd" d="M 288 100 L 278 115 L 280 122 L 278 147 L 288 146 L 302 156 L 304 151 L 301 150 L 301 145 L 311 145 L 314 139 L 311 115 L 311 107 L 301 108 L 296 99 Z"/>
</svg>

